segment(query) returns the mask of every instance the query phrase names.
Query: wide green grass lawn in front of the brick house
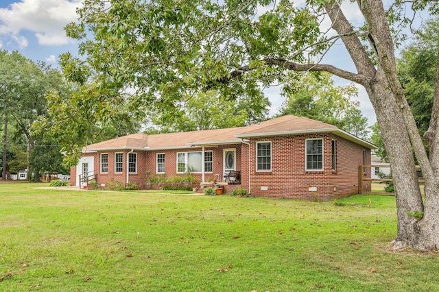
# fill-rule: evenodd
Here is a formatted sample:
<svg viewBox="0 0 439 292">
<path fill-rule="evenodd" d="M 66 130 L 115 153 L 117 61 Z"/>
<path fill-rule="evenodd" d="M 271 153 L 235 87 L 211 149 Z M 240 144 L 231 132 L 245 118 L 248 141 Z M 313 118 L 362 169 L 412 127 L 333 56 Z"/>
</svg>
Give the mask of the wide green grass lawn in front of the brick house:
<svg viewBox="0 0 439 292">
<path fill-rule="evenodd" d="M 0 291 L 439 291 L 394 197 L 337 202 L 0 184 Z"/>
</svg>

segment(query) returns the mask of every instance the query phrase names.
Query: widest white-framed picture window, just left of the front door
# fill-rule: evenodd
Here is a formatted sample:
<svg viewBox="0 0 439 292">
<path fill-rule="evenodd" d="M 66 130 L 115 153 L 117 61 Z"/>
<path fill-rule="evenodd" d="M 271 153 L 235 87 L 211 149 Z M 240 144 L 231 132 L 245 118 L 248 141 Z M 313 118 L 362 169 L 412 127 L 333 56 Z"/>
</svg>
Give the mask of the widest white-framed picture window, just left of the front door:
<svg viewBox="0 0 439 292">
<path fill-rule="evenodd" d="M 213 171 L 212 151 L 204 152 L 204 171 Z M 202 172 L 202 152 L 182 152 L 177 154 L 177 172 Z"/>
</svg>

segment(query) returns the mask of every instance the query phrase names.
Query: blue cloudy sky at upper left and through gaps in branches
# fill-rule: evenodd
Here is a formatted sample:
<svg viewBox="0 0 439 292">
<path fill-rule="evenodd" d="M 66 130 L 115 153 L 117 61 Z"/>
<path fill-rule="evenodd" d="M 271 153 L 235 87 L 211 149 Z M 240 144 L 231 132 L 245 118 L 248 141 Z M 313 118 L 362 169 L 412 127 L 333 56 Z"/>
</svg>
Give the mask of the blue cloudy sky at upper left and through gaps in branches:
<svg viewBox="0 0 439 292">
<path fill-rule="evenodd" d="M 351 21 L 361 21 L 356 5 L 346 1 L 344 12 Z M 64 26 L 76 21 L 76 8 L 81 0 L 1 0 L 0 1 L 0 48 L 7 51 L 19 51 L 23 56 L 58 66 L 60 53 L 69 51 L 78 54 L 78 47 L 64 34 Z M 342 47 L 340 45 L 340 47 Z M 343 69 L 355 71 L 348 56 L 335 50 L 325 56 L 325 61 Z M 338 85 L 350 82 L 335 78 Z M 359 88 L 360 109 L 368 118 L 369 124 L 375 123 L 375 112 L 368 100 L 364 88 Z M 280 86 L 267 88 L 265 95 L 272 101 L 270 114 L 276 114 L 283 98 L 279 96 Z"/>
</svg>

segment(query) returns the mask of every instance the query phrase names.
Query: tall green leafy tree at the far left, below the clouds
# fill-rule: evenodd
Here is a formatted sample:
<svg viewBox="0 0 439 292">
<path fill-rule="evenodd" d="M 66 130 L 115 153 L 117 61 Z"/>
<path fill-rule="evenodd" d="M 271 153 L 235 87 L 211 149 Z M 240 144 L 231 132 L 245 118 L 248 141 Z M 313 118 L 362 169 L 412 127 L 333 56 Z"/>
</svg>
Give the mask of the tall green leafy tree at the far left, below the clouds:
<svg viewBox="0 0 439 292">
<path fill-rule="evenodd" d="M 29 152 L 34 145 L 30 127 L 38 115 L 47 110 L 45 95 L 53 90 L 65 94 L 69 88 L 59 71 L 43 62 L 35 63 L 16 51 L 3 50 L 0 50 L 0 84 L 0 114 L 3 133 L 7 132 L 6 144 L 16 145 L 9 151 L 14 157 L 23 158 L 19 163 L 5 161 L 14 173 L 29 168 Z"/>
</svg>

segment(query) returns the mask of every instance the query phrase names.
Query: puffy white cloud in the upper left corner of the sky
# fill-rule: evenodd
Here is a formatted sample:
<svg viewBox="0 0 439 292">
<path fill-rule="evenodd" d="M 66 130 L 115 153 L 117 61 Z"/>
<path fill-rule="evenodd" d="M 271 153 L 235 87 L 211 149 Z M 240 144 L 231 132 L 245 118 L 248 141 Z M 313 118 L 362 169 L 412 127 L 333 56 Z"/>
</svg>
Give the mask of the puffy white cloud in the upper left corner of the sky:
<svg viewBox="0 0 439 292">
<path fill-rule="evenodd" d="M 40 45 L 70 42 L 63 27 L 78 19 L 80 0 L 21 0 L 0 8 L 0 34 L 11 36 L 20 47 L 27 46 L 23 32 L 33 32 Z"/>
</svg>

